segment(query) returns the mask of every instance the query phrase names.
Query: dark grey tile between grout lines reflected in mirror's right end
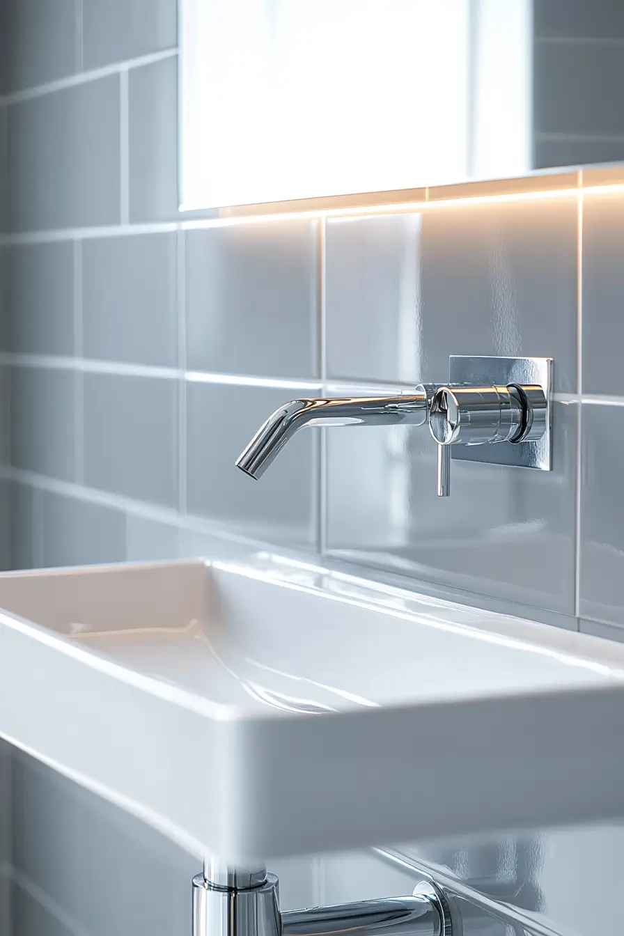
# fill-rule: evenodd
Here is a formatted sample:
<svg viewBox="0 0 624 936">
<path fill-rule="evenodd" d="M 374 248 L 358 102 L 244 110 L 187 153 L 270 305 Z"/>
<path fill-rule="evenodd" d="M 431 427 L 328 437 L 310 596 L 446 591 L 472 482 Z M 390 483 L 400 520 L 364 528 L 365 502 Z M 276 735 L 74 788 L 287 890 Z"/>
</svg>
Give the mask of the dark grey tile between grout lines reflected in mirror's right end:
<svg viewBox="0 0 624 936">
<path fill-rule="evenodd" d="M 624 134 L 624 43 L 537 42 L 533 55 L 537 132 Z"/>
</svg>

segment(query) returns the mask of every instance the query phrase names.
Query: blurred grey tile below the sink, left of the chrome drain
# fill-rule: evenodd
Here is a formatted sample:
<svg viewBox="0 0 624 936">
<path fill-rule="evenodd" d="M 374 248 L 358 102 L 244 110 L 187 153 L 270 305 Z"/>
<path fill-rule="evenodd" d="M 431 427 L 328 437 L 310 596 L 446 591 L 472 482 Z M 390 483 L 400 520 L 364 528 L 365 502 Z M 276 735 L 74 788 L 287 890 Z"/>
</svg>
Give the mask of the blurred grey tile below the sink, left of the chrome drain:
<svg viewBox="0 0 624 936">
<path fill-rule="evenodd" d="M 16 867 L 73 921 L 74 931 L 92 936 L 190 932 L 197 859 L 34 759 L 18 757 Z M 145 899 L 138 900 L 138 893 Z M 36 936 L 48 932 L 40 929 Z"/>
</svg>

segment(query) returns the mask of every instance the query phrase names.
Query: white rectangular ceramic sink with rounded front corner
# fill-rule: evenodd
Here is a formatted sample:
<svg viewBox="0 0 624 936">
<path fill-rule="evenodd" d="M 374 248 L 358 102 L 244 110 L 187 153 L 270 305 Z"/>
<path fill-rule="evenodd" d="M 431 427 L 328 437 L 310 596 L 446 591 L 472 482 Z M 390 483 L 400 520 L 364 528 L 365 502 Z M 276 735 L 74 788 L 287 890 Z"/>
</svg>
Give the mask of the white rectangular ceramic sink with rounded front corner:
<svg viewBox="0 0 624 936">
<path fill-rule="evenodd" d="M 297 563 L 0 576 L 0 735 L 232 861 L 624 815 L 624 647 Z"/>
</svg>

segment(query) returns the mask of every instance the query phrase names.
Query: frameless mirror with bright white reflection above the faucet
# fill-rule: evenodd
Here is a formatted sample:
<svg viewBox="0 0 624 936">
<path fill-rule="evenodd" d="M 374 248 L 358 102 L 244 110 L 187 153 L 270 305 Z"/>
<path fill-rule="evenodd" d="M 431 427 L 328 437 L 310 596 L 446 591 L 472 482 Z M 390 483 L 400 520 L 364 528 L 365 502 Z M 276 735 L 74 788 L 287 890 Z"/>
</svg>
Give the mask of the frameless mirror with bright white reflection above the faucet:
<svg viewBox="0 0 624 936">
<path fill-rule="evenodd" d="M 624 159 L 613 0 L 180 0 L 180 36 L 182 211 Z"/>
</svg>

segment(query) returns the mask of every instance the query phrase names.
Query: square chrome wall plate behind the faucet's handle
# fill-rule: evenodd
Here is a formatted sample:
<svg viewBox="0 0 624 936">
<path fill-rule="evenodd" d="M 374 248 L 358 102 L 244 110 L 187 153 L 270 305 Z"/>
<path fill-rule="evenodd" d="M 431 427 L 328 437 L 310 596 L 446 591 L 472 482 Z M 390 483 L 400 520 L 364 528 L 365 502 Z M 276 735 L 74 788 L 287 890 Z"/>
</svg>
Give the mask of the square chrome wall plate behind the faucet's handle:
<svg viewBox="0 0 624 936">
<path fill-rule="evenodd" d="M 452 355 L 449 367 L 451 386 L 537 384 L 544 388 L 547 412 L 546 431 L 537 442 L 501 442 L 496 446 L 450 446 L 451 458 L 457 461 L 482 461 L 486 464 L 551 471 L 552 369 L 552 358 L 474 358 Z"/>
</svg>

